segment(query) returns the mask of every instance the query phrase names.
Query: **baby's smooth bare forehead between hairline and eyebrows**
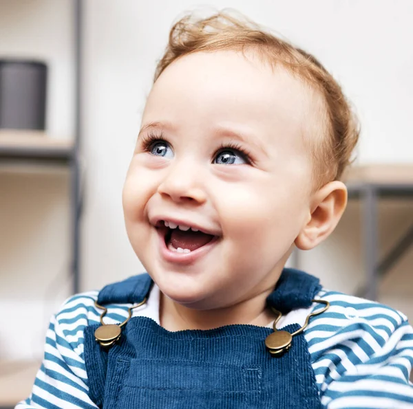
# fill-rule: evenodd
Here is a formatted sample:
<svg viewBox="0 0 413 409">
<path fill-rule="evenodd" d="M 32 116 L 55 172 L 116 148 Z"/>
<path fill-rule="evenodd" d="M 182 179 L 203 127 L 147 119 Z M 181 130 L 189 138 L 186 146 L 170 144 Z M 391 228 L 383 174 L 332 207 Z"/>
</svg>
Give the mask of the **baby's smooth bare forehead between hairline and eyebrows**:
<svg viewBox="0 0 413 409">
<path fill-rule="evenodd" d="M 240 126 L 264 140 L 302 146 L 310 93 L 283 67 L 241 52 L 196 52 L 178 58 L 156 80 L 142 122 L 182 131 Z"/>
</svg>

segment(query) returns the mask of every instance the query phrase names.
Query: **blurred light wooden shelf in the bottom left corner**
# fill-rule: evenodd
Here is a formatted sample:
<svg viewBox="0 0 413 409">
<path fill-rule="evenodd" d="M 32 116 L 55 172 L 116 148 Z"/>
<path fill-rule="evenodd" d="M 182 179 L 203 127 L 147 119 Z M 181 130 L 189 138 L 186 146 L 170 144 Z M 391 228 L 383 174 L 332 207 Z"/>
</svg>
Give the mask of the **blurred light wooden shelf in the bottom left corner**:
<svg viewBox="0 0 413 409">
<path fill-rule="evenodd" d="M 30 396 L 40 366 L 37 361 L 0 361 L 0 408 L 14 408 Z"/>
</svg>

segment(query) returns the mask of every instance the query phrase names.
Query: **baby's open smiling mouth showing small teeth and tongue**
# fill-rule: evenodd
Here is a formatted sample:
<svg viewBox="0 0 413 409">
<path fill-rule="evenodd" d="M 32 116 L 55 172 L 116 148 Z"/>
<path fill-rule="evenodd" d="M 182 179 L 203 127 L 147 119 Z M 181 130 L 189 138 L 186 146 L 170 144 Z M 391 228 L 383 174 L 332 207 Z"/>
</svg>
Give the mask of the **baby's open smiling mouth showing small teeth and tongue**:
<svg viewBox="0 0 413 409">
<path fill-rule="evenodd" d="M 167 249 L 176 253 L 189 254 L 204 247 L 217 237 L 188 225 L 176 225 L 168 221 L 160 221 L 160 228 L 165 234 Z"/>
</svg>

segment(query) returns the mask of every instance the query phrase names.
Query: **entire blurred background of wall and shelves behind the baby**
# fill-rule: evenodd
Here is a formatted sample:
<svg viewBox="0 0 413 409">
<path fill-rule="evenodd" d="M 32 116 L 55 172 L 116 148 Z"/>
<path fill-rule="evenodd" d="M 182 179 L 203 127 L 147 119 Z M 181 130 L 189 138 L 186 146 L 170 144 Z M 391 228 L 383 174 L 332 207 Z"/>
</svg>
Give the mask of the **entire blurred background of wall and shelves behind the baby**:
<svg viewBox="0 0 413 409">
<path fill-rule="evenodd" d="M 412 320 L 412 1 L 0 0 L 0 407 L 30 392 L 65 298 L 142 272 L 123 181 L 169 29 L 198 6 L 271 27 L 341 83 L 362 129 L 349 206 L 289 265 Z"/>
</svg>

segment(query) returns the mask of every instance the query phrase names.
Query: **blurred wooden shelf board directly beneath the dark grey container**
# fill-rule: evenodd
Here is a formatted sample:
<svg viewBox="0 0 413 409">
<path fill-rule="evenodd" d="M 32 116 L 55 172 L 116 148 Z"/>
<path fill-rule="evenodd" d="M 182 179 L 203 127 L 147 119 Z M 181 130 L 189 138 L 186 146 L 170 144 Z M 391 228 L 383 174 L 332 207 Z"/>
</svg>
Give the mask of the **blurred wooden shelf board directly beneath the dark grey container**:
<svg viewBox="0 0 413 409">
<path fill-rule="evenodd" d="M 72 140 L 49 137 L 43 131 L 0 130 L 0 161 L 40 159 L 69 161 L 74 153 Z"/>
</svg>

